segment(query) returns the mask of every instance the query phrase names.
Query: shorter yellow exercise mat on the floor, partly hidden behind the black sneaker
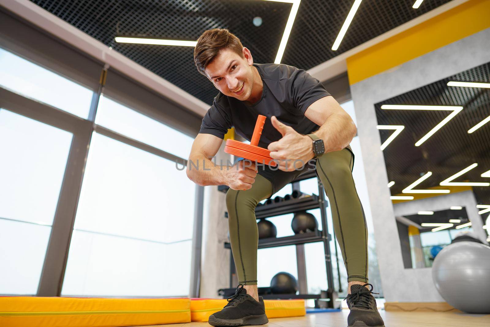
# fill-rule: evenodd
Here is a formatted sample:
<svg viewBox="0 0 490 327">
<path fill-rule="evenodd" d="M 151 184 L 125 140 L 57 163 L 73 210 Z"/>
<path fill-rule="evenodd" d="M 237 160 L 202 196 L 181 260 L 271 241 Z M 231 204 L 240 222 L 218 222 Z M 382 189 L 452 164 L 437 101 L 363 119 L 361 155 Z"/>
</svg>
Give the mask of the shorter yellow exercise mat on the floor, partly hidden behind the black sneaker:
<svg viewBox="0 0 490 327">
<path fill-rule="evenodd" d="M 207 322 L 209 316 L 220 311 L 226 300 L 191 299 L 191 320 Z M 304 300 L 264 300 L 268 318 L 298 317 L 306 315 Z"/>
</svg>

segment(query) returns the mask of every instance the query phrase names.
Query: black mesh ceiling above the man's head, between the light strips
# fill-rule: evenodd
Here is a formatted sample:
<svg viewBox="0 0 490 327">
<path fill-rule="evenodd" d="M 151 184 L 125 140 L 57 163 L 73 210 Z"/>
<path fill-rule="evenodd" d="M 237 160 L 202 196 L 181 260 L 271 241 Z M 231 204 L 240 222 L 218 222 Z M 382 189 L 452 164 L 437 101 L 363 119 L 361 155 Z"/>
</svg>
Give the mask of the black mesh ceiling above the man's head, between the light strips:
<svg viewBox="0 0 490 327">
<path fill-rule="evenodd" d="M 117 44 L 118 34 L 196 40 L 211 28 L 228 28 L 257 63 L 274 62 L 291 3 L 263 0 L 31 0 L 165 78 L 197 99 L 211 104 L 218 91 L 194 66 L 193 48 Z M 361 2 L 337 51 L 332 45 L 354 0 L 302 0 L 282 63 L 308 70 L 402 25 L 449 0 Z M 263 24 L 254 26 L 254 17 Z"/>
</svg>

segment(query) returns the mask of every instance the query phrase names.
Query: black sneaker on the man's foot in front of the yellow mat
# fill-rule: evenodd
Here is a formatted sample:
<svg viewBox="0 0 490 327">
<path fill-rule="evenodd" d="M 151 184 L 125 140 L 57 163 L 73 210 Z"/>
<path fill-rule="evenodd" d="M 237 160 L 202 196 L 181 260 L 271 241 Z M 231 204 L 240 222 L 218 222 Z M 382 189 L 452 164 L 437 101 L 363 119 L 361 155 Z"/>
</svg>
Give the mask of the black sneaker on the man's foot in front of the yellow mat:
<svg viewBox="0 0 490 327">
<path fill-rule="evenodd" d="M 259 297 L 259 302 L 246 294 L 244 285 L 240 284 L 234 295 L 228 299 L 224 308 L 209 316 L 209 325 L 212 326 L 247 326 L 264 325 L 269 322 L 266 316 L 264 299 Z"/>
</svg>

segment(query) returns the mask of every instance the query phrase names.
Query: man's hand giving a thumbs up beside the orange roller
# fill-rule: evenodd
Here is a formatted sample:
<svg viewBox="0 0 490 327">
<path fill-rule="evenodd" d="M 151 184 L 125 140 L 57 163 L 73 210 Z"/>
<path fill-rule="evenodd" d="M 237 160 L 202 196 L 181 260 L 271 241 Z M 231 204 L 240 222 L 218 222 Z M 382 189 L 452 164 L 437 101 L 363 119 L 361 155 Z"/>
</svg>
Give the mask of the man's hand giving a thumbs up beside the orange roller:
<svg viewBox="0 0 490 327">
<path fill-rule="evenodd" d="M 280 170 L 292 172 L 315 157 L 313 141 L 309 136 L 299 134 L 293 127 L 279 122 L 275 116 L 270 121 L 282 135 L 279 141 L 272 142 L 267 147 L 270 157 L 277 162 Z"/>
</svg>

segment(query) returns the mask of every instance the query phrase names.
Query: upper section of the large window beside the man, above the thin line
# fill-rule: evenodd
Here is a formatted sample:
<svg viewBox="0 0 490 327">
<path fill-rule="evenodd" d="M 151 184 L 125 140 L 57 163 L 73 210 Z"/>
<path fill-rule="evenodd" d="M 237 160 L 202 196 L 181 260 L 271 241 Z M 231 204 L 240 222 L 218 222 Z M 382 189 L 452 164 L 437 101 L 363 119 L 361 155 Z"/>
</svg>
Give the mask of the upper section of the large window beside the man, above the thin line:
<svg viewBox="0 0 490 327">
<path fill-rule="evenodd" d="M 75 229 L 164 243 L 191 239 L 195 191 L 174 162 L 94 133 Z"/>
</svg>

